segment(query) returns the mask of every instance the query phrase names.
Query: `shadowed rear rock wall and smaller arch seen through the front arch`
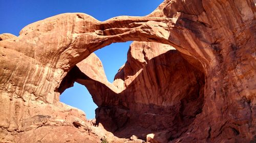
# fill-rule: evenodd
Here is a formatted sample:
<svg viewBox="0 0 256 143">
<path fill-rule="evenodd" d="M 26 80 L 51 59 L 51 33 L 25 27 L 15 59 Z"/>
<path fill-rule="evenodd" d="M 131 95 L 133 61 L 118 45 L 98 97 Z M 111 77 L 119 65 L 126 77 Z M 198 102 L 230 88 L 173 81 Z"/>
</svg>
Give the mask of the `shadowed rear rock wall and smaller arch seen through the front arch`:
<svg viewBox="0 0 256 143">
<path fill-rule="evenodd" d="M 72 78 L 86 85 L 99 106 L 96 123 L 116 136 L 144 139 L 148 133 L 169 130 L 175 138 L 202 111 L 204 74 L 171 46 L 134 42 L 113 84 L 88 63 L 78 63 L 79 70 L 71 75 L 84 75 Z"/>
</svg>

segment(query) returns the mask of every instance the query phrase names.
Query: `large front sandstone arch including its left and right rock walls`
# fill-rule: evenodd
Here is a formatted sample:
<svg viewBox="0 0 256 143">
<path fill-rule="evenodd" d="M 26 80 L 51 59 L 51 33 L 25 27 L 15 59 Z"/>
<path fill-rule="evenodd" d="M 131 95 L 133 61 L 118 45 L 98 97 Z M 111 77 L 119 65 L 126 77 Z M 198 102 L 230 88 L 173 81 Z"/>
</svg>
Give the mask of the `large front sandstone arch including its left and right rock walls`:
<svg viewBox="0 0 256 143">
<path fill-rule="evenodd" d="M 112 42 L 137 40 L 173 45 L 188 59 L 193 57 L 194 61 L 189 60 L 192 64 L 196 61 L 195 65 L 203 67 L 207 95 L 203 111 L 191 124 L 191 130 L 177 140 L 249 142 L 255 135 L 255 11 L 251 0 L 165 1 L 145 17 L 98 22 L 76 13 L 31 24 L 19 37 L 10 36 L 0 42 L 2 130 L 9 137 L 13 137 L 10 132 L 22 136 L 24 131 L 31 131 L 18 126 L 20 119 L 24 125 L 30 117 L 49 120 L 48 116 L 37 116 L 45 106 L 54 108 L 46 115 L 58 115 L 61 109 L 57 107 L 63 105 L 59 105 L 56 90 L 75 64 Z M 126 28 L 111 28 L 120 23 Z M 91 44 L 84 44 L 83 40 L 92 39 Z M 36 111 L 31 107 L 37 107 Z M 25 115 L 16 111 L 24 111 Z M 19 140 L 11 140 L 15 139 Z"/>
</svg>

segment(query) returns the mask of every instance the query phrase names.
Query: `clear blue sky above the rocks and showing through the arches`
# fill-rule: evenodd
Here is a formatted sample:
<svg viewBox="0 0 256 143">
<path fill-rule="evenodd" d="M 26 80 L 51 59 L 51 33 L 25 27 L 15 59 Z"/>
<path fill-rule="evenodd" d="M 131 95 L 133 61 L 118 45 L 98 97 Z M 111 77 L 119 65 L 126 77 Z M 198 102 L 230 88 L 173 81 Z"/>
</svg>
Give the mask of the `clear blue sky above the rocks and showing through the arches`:
<svg viewBox="0 0 256 143">
<path fill-rule="evenodd" d="M 18 36 L 26 25 L 67 12 L 87 13 L 100 21 L 121 15 L 144 16 L 154 11 L 163 0 L 83 0 L 83 1 L 43 1 L 43 0 L 0 0 L 0 34 L 11 33 Z M 131 42 L 114 43 L 97 50 L 106 76 L 113 82 L 118 69 L 125 63 Z M 88 90 L 78 83 L 60 96 L 60 101 L 86 112 L 88 119 L 95 117 L 97 106 Z"/>
</svg>

